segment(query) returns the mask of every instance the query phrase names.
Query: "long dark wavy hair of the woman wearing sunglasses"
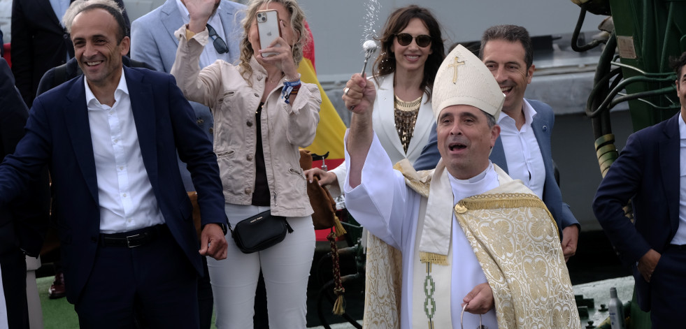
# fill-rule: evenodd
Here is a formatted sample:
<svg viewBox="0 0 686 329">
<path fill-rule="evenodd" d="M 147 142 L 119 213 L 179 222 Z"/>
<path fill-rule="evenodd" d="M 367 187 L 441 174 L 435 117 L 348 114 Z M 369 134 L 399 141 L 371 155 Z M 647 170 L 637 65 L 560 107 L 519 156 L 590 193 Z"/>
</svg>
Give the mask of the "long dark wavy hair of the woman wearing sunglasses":
<svg viewBox="0 0 686 329">
<path fill-rule="evenodd" d="M 396 9 L 388 17 L 383 27 L 381 38 L 377 39 L 381 43 L 381 51 L 379 56 L 376 57 L 376 61 L 374 61 L 373 71 L 376 73 L 374 80 L 376 80 L 378 85 L 378 77 L 380 75 L 395 72 L 395 56 L 391 52 L 391 46 L 393 45 L 395 35 L 405 29 L 413 18 L 422 20 L 429 30 L 429 36 L 431 36 L 432 52 L 429 54 L 427 62 L 424 63 L 424 78 L 420 86 L 421 89 L 426 90 L 427 100 L 430 100 L 431 88 L 434 87 L 436 72 L 438 72 L 438 67 L 441 66 L 441 62 L 445 58 L 445 49 L 443 47 L 443 37 L 441 36 L 441 25 L 438 24 L 434 15 L 427 8 L 410 5 Z"/>
</svg>

